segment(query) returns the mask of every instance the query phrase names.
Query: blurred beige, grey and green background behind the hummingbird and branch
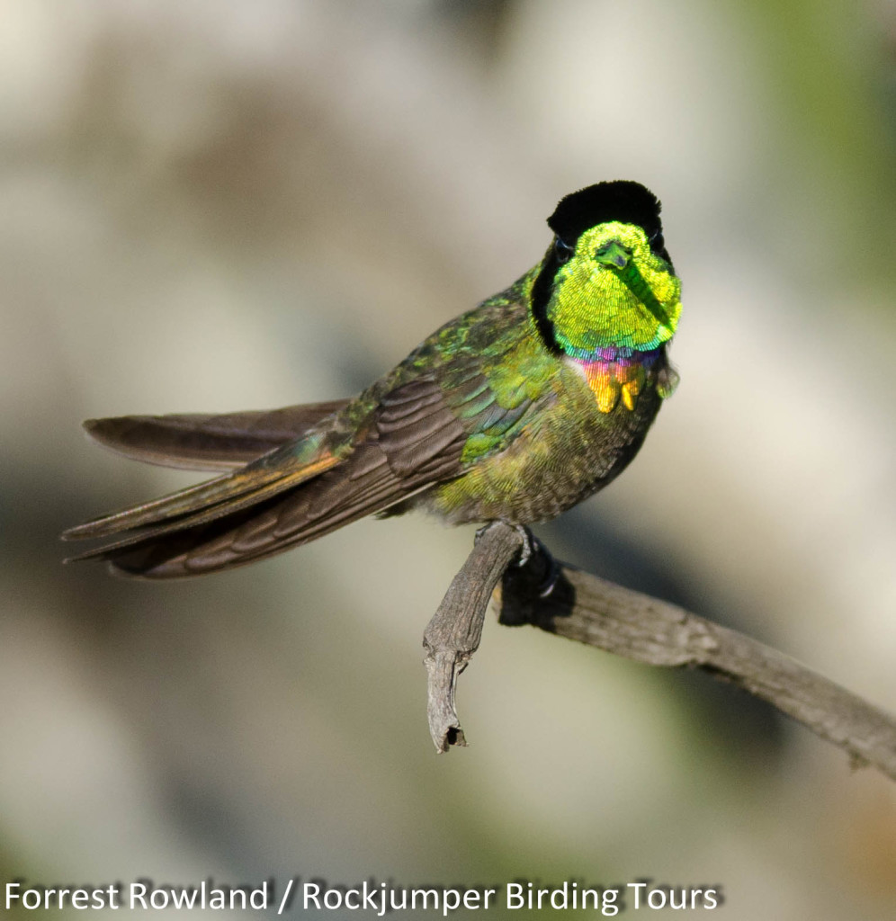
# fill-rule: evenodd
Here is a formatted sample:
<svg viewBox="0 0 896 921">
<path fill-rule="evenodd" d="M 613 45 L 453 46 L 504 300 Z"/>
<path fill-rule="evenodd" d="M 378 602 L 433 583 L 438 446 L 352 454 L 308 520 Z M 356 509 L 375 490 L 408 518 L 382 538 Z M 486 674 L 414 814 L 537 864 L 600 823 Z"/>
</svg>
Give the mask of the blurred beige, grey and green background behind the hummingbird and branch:
<svg viewBox="0 0 896 921">
<path fill-rule="evenodd" d="M 365 521 L 162 585 L 63 567 L 57 534 L 195 480 L 80 420 L 358 391 L 540 259 L 562 195 L 636 179 L 681 386 L 541 537 L 896 709 L 896 6 L 0 18 L 4 879 L 649 877 L 732 921 L 890 916 L 896 787 L 702 675 L 489 618 L 471 745 L 437 757 L 421 636 L 471 528 Z"/>
</svg>

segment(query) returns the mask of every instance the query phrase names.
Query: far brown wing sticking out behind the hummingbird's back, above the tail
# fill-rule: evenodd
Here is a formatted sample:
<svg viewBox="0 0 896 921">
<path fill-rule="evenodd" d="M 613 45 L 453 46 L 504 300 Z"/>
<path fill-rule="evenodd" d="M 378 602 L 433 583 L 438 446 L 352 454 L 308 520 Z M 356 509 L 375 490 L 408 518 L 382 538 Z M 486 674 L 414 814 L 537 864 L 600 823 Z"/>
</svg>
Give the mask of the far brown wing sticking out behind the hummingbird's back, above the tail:
<svg viewBox="0 0 896 921">
<path fill-rule="evenodd" d="M 87 434 L 135 461 L 181 470 L 229 471 L 296 441 L 347 400 L 227 414 L 122 415 L 88 419 Z"/>
</svg>

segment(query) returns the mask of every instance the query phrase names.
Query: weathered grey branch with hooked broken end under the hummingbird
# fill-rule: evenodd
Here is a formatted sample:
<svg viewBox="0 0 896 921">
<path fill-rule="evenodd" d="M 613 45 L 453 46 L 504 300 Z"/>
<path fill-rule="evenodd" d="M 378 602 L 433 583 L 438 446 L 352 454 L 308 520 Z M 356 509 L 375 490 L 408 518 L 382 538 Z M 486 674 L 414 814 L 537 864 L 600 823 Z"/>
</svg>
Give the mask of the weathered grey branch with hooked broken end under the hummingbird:
<svg viewBox="0 0 896 921">
<path fill-rule="evenodd" d="M 839 745 L 855 763 L 873 764 L 896 780 L 896 719 L 861 697 L 736 630 L 713 624 L 667 601 L 623 589 L 575 566 L 556 564 L 539 544 L 526 565 L 508 565 L 523 545 L 519 531 L 508 525 L 492 525 L 484 535 L 487 542 L 480 541 L 473 548 L 439 612 L 447 608 L 449 598 L 451 611 L 480 610 L 483 592 L 491 592 L 500 577 L 495 577 L 495 569 L 504 561 L 497 599 L 502 624 L 532 624 L 649 665 L 708 671 L 722 681 L 738 684 L 822 739 Z M 478 589 L 468 581 L 486 571 L 489 581 L 483 581 Z M 552 580 L 553 588 L 545 593 Z M 443 616 L 451 614 L 446 610 Z M 476 643 L 463 664 L 478 645 L 481 615 L 479 624 Z M 453 709 L 453 682 L 450 691 L 452 725 L 463 743 Z M 433 693 L 438 694 L 431 680 Z M 450 743 L 448 739 L 439 750 L 447 751 Z"/>
</svg>

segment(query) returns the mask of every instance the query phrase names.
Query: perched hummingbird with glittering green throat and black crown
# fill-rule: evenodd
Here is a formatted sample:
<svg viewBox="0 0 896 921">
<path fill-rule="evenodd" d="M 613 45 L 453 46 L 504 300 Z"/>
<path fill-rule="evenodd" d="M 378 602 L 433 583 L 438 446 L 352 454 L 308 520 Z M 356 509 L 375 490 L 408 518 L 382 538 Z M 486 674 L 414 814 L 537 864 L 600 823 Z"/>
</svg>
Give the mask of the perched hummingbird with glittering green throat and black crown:
<svg viewBox="0 0 896 921">
<path fill-rule="evenodd" d="M 198 576 L 371 514 L 528 525 L 610 483 L 677 383 L 666 344 L 681 282 L 659 202 L 637 182 L 573 192 L 548 226 L 541 262 L 353 399 L 86 422 L 125 456 L 226 472 L 67 530 L 116 535 L 76 559 Z"/>
</svg>

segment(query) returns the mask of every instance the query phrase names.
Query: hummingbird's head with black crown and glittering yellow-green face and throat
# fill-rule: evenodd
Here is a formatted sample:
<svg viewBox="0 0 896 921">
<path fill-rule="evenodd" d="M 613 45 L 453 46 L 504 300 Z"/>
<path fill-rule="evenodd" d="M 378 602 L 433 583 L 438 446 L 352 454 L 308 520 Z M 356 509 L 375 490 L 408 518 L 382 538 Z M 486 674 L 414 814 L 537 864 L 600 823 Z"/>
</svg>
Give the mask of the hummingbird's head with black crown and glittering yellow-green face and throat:
<svg viewBox="0 0 896 921">
<path fill-rule="evenodd" d="M 554 239 L 532 286 L 532 310 L 549 344 L 587 358 L 671 339 L 681 282 L 652 192 L 637 182 L 600 182 L 567 195 L 548 225 Z"/>
</svg>

